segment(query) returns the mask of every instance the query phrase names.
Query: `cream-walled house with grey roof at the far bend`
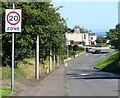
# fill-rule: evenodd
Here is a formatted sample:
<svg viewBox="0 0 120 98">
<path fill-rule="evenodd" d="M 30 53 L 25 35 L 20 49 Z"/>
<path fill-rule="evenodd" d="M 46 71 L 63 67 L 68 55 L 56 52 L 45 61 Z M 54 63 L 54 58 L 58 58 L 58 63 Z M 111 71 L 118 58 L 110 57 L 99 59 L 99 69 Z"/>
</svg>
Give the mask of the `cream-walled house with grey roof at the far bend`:
<svg viewBox="0 0 120 98">
<path fill-rule="evenodd" d="M 87 29 L 75 26 L 72 30 L 65 33 L 66 42 L 70 45 L 70 41 L 73 40 L 74 44 L 82 46 L 82 41 L 85 45 L 95 45 L 97 36 L 95 33 L 88 31 Z"/>
</svg>

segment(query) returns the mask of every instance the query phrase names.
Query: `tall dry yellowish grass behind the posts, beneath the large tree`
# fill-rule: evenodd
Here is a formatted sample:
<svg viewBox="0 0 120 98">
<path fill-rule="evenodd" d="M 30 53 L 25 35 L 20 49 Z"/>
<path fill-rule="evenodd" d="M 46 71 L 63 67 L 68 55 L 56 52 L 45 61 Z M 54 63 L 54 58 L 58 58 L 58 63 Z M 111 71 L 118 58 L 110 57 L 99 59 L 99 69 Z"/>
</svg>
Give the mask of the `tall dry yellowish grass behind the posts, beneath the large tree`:
<svg viewBox="0 0 120 98">
<path fill-rule="evenodd" d="M 47 71 L 47 66 L 49 66 L 49 57 L 44 61 L 44 64 L 40 64 L 39 70 L 40 74 L 45 74 Z M 56 69 L 56 65 L 54 62 L 53 64 L 53 71 Z M 23 61 L 19 61 L 16 68 L 15 68 L 15 78 L 17 77 L 24 77 L 26 79 L 33 79 L 35 77 L 35 58 L 26 58 Z M 11 78 L 11 68 L 9 66 L 6 67 L 0 67 L 0 72 L 2 72 L 2 75 L 0 75 L 0 78 L 6 79 Z"/>
</svg>

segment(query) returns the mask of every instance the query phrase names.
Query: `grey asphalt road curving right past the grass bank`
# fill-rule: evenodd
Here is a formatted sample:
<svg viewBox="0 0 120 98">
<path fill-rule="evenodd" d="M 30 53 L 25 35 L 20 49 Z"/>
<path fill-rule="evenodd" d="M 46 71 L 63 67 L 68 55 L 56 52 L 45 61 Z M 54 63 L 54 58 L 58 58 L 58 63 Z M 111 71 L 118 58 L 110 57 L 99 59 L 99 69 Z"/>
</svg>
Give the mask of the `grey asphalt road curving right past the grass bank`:
<svg viewBox="0 0 120 98">
<path fill-rule="evenodd" d="M 65 69 L 66 96 L 118 96 L 120 76 L 93 68 L 98 61 L 114 50 L 101 51 L 101 54 L 85 53 L 68 62 Z"/>
</svg>

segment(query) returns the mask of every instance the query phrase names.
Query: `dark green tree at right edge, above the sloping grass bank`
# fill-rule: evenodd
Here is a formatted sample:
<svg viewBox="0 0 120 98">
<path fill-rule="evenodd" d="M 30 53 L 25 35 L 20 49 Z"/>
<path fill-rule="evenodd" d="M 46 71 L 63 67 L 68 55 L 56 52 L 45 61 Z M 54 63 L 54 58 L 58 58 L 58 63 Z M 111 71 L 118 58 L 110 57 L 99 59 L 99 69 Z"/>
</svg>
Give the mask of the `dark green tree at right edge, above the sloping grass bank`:
<svg viewBox="0 0 120 98">
<path fill-rule="evenodd" d="M 111 45 L 120 51 L 120 24 L 117 24 L 115 29 L 110 29 L 106 34 Z"/>
</svg>

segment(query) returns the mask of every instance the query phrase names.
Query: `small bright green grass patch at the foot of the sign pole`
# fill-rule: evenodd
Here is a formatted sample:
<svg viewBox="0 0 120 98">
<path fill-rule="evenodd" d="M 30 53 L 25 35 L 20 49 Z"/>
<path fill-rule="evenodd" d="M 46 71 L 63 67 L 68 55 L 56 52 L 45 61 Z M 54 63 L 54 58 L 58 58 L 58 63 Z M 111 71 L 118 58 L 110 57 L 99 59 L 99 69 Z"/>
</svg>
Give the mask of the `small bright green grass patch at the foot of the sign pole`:
<svg viewBox="0 0 120 98">
<path fill-rule="evenodd" d="M 14 87 L 14 89 L 19 89 L 19 87 Z M 11 87 L 8 86 L 0 86 L 0 96 L 5 98 L 12 94 Z"/>
</svg>

